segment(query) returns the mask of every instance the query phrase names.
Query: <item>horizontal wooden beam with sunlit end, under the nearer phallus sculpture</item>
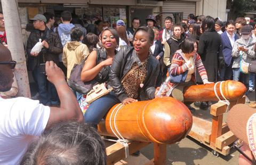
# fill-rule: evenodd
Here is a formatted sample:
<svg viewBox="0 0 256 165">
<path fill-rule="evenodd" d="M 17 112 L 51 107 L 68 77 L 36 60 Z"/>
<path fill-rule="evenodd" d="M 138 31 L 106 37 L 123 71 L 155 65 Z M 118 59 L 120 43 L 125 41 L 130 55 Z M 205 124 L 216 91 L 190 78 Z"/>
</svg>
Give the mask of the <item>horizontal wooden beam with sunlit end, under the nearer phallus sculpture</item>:
<svg viewBox="0 0 256 165">
<path fill-rule="evenodd" d="M 129 155 L 147 146 L 148 142 L 132 141 L 129 143 Z M 112 165 L 125 158 L 125 147 L 121 143 L 115 143 L 106 148 L 108 165 Z"/>
</svg>

